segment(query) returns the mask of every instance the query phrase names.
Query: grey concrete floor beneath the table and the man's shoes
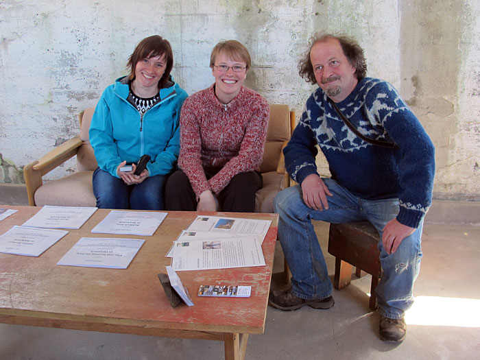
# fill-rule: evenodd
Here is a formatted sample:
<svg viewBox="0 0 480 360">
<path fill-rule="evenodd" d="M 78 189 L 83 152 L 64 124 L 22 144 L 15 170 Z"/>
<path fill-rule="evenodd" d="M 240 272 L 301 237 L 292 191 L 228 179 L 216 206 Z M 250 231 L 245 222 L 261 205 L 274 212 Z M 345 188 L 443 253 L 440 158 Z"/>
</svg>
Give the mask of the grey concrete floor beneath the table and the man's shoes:
<svg viewBox="0 0 480 360">
<path fill-rule="evenodd" d="M 26 204 L 22 187 L 0 187 L 0 204 Z M 451 209 L 472 204 L 450 204 Z M 448 210 L 433 206 L 434 214 Z M 480 219 L 472 207 L 464 217 Z M 473 213 L 472 213 L 473 211 Z M 448 219 L 458 217 L 457 212 Z M 334 291 L 329 310 L 304 307 L 267 310 L 265 333 L 250 335 L 246 359 L 479 359 L 480 226 L 427 218 L 422 239 L 422 269 L 415 285 L 416 302 L 407 313 L 407 338 L 389 344 L 378 336 L 378 311 L 368 308 L 370 276 L 355 278 Z M 328 269 L 328 224 L 315 228 Z M 276 250 L 272 286 L 281 287 L 281 248 Z M 171 339 L 35 328 L 0 324 L 0 359 L 222 359 L 219 341 Z"/>
</svg>

